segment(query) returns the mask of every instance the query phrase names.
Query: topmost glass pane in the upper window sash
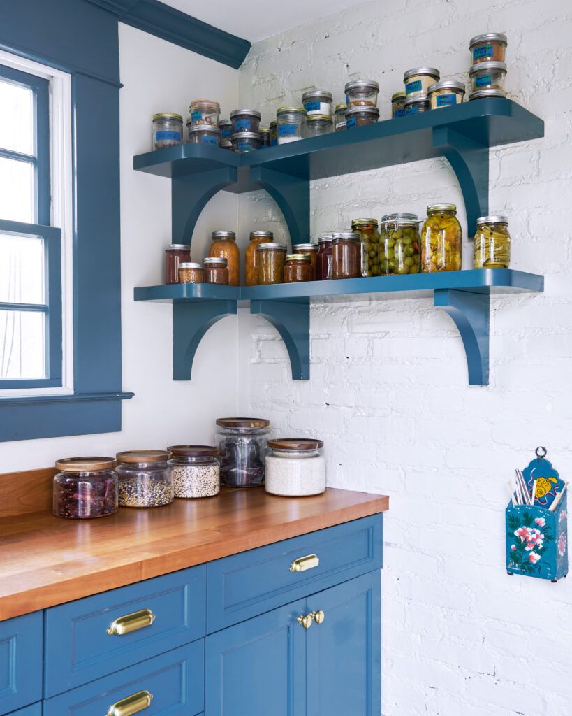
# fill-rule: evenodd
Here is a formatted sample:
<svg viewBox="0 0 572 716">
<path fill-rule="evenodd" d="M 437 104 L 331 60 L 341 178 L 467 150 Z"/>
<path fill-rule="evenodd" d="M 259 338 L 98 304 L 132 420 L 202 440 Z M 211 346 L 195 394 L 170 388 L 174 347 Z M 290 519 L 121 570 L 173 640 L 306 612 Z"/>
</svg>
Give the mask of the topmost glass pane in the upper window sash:
<svg viewBox="0 0 572 716">
<path fill-rule="evenodd" d="M 0 80 L 0 147 L 34 153 L 34 95 L 31 89 Z"/>
</svg>

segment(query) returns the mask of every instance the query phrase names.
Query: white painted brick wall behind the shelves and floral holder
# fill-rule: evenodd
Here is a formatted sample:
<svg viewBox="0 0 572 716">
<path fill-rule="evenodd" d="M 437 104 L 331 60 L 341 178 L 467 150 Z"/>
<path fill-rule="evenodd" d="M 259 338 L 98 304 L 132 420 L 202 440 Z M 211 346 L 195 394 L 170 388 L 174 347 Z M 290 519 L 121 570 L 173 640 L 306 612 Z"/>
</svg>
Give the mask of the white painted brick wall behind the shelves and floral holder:
<svg viewBox="0 0 572 716">
<path fill-rule="evenodd" d="M 468 387 L 458 333 L 430 299 L 312 306 L 310 382 L 292 382 L 269 324 L 240 315 L 241 409 L 282 435 L 319 433 L 330 485 L 390 495 L 384 716 L 572 714 L 572 585 L 509 578 L 503 551 L 516 465 L 543 444 L 571 477 L 571 5 L 375 1 L 256 44 L 240 72 L 241 104 L 265 124 L 313 85 L 339 101 L 355 77 L 379 80 L 388 117 L 403 70 L 429 64 L 466 82 L 468 40 L 487 30 L 508 32 L 509 96 L 546 121 L 543 140 L 491 152 L 490 206 L 511 218 L 512 266 L 545 274 L 546 292 L 493 300 L 490 386 Z M 432 200 L 462 207 L 445 160 L 317 181 L 312 237 L 355 216 L 423 215 Z M 241 201 L 242 234 L 287 239 L 265 195 Z"/>
</svg>

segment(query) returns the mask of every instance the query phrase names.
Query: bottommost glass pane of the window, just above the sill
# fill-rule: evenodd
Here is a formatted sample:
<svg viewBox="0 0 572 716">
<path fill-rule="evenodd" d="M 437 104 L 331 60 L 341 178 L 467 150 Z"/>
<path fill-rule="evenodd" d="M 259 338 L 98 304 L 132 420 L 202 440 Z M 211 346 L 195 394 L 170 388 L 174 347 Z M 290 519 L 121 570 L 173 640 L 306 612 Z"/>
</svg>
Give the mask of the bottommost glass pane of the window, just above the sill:
<svg viewBox="0 0 572 716">
<path fill-rule="evenodd" d="M 45 316 L 36 311 L 0 311 L 0 379 L 44 378 Z"/>
</svg>

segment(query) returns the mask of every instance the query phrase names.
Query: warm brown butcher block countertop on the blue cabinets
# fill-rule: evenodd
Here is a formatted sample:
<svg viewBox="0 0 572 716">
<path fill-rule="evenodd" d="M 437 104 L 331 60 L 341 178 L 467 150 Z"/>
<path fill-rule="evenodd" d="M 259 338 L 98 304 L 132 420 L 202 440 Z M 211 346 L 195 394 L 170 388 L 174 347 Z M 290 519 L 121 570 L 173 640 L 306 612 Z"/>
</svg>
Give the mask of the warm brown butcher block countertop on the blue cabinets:
<svg viewBox="0 0 572 716">
<path fill-rule="evenodd" d="M 0 495 L 1 496 L 1 495 Z M 0 620 L 384 512 L 389 498 L 328 489 L 280 498 L 262 488 L 123 508 L 95 520 L 48 511 L 0 518 Z"/>
</svg>

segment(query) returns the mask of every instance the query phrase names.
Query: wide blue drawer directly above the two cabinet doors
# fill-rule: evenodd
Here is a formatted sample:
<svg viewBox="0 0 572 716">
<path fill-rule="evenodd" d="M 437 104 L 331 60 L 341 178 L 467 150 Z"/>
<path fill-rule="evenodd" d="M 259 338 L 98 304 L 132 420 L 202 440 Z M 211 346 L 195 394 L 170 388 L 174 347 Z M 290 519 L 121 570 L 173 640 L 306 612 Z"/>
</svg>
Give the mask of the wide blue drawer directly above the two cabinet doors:
<svg viewBox="0 0 572 716">
<path fill-rule="evenodd" d="M 291 571 L 295 560 L 320 563 Z M 311 532 L 207 564 L 207 633 L 380 569 L 382 516 Z"/>
</svg>

